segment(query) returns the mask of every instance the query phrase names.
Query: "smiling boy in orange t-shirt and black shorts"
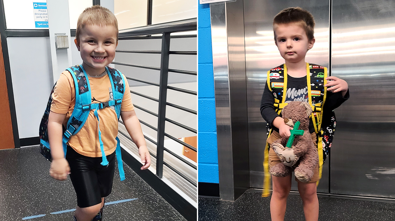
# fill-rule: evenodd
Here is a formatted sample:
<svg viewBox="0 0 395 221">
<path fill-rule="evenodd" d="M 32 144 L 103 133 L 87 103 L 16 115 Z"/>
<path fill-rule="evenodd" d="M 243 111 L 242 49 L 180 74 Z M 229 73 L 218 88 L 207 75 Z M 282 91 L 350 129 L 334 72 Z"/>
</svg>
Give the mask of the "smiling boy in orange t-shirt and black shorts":
<svg viewBox="0 0 395 221">
<path fill-rule="evenodd" d="M 75 108 L 77 83 L 69 71 L 62 72 L 52 95 L 48 119 L 52 156 L 50 175 L 56 180 L 66 180 L 67 175 L 70 175 L 77 194 L 75 221 L 98 221 L 102 220 L 104 197 L 111 193 L 117 147 L 118 116 L 114 106 L 105 105 L 113 99 L 111 88 L 115 84 L 110 82 L 109 68 L 106 67 L 113 61 L 118 45 L 115 15 L 101 6 L 85 9 L 78 18 L 74 42 L 83 60 L 81 70 L 88 76 L 92 104 L 100 108 L 90 110 L 85 124 L 77 134 L 70 137 L 65 156 L 62 127 L 66 126 Z M 126 79 L 125 76 L 123 79 Z M 124 80 L 120 117 L 139 148 L 144 164 L 141 169 L 147 169 L 150 166 L 150 154 L 129 91 L 128 81 Z M 105 158 L 108 162 L 103 160 Z"/>
</svg>

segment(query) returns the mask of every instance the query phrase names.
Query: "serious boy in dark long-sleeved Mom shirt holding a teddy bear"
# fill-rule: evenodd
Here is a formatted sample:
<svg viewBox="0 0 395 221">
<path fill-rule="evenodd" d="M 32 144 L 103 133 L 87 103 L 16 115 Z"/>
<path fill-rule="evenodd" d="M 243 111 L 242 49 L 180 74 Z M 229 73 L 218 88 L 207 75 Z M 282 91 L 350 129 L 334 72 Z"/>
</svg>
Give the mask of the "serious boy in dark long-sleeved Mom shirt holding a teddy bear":
<svg viewBox="0 0 395 221">
<path fill-rule="evenodd" d="M 284 9 L 273 20 L 275 44 L 282 58 L 285 59 L 285 64 L 279 65 L 268 72 L 268 80 L 261 100 L 261 115 L 271 127 L 267 138 L 269 145 L 281 137 L 290 137 L 291 135 L 290 129 L 292 128 L 285 124 L 281 117 L 281 108 L 286 103 L 294 100 L 305 101 L 312 106 L 313 111 L 320 109 L 319 112 L 314 112 L 315 115 L 312 114 L 312 117 L 310 117 L 309 126 L 312 140 L 317 143 L 321 128 L 316 119 L 322 122 L 323 112 L 328 113 L 334 110 L 349 97 L 346 81 L 335 76 L 327 76 L 326 68 L 320 65 L 305 62 L 306 53 L 315 42 L 314 25 L 313 16 L 300 7 Z M 313 74 L 315 71 L 310 71 L 311 69 L 314 69 L 317 73 Z M 317 80 L 310 84 L 310 78 Z M 318 87 L 322 89 L 318 89 Z M 314 98 L 312 98 L 310 91 L 313 91 Z M 319 145 L 322 145 L 322 143 L 318 142 L 318 147 Z M 265 151 L 265 154 L 265 158 L 268 157 L 269 167 L 281 163 L 273 149 L 270 148 L 269 152 Z M 321 162 L 319 164 L 322 164 Z M 322 167 L 322 165 L 316 166 L 310 182 L 305 183 L 296 179 L 303 201 L 306 221 L 318 220 L 316 184 L 320 179 L 319 167 Z M 265 173 L 267 172 L 265 169 Z M 272 175 L 272 180 L 271 219 L 272 221 L 283 221 L 288 194 L 291 190 L 291 175 L 285 177 Z"/>
</svg>

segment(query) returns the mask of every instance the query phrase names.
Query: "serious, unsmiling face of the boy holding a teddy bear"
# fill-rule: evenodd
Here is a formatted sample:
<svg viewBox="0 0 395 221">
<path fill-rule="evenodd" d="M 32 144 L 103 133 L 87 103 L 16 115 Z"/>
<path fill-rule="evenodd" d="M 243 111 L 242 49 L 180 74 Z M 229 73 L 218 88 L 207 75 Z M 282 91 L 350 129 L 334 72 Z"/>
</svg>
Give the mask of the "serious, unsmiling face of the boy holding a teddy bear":
<svg viewBox="0 0 395 221">
<path fill-rule="evenodd" d="M 305 62 L 307 50 L 314 45 L 315 39 L 308 40 L 301 24 L 275 24 L 276 46 L 287 62 Z"/>
</svg>

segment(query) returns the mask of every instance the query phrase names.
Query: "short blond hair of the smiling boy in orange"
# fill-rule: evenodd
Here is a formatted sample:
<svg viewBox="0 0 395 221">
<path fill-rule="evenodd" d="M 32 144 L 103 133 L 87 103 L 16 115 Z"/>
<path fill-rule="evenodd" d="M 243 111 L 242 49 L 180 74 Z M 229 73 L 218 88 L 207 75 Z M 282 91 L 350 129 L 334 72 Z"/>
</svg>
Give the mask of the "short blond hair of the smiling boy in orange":
<svg viewBox="0 0 395 221">
<path fill-rule="evenodd" d="M 75 38 L 79 42 L 79 34 L 87 25 L 114 26 L 117 30 L 118 43 L 118 21 L 115 15 L 107 8 L 102 6 L 87 7 L 78 17 Z"/>
</svg>

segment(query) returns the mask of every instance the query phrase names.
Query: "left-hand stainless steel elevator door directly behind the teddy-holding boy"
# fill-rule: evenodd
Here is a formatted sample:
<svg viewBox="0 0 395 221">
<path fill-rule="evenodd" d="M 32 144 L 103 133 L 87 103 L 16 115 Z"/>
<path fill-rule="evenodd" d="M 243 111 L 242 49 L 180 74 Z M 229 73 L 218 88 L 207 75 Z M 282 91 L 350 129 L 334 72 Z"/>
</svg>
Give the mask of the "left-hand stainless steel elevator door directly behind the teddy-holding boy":
<svg viewBox="0 0 395 221">
<path fill-rule="evenodd" d="M 329 0 L 245 0 L 244 28 L 247 76 L 248 148 L 250 187 L 263 186 L 263 150 L 266 122 L 261 117 L 260 101 L 265 87 L 266 72 L 284 63 L 274 42 L 273 18 L 287 7 L 302 7 L 316 21 L 314 47 L 307 52 L 306 62 L 328 67 L 329 64 Z M 324 164 L 319 192 L 328 192 L 328 164 Z M 293 190 L 296 182 L 293 181 Z"/>
</svg>

